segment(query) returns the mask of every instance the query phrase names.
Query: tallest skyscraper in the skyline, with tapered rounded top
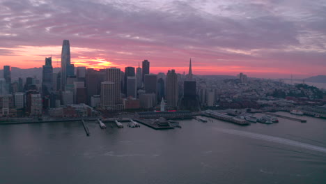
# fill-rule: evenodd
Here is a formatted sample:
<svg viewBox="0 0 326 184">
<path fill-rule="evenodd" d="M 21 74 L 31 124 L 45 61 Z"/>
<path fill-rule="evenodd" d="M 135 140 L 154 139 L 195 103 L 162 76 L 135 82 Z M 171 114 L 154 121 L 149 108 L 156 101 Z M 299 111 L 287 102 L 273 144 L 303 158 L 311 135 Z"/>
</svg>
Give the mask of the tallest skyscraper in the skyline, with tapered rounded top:
<svg viewBox="0 0 326 184">
<path fill-rule="evenodd" d="M 70 64 L 69 40 L 63 40 L 61 50 L 61 91 L 65 91 L 65 84 L 67 84 L 67 76 L 73 76 L 74 72 L 74 65 Z"/>
</svg>

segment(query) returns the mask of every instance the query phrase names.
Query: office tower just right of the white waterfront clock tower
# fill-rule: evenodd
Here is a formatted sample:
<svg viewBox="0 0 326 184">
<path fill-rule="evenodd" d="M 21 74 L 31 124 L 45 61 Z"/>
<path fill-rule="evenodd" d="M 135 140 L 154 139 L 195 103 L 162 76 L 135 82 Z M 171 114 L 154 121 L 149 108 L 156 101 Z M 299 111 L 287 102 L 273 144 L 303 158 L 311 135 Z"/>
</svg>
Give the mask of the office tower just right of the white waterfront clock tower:
<svg viewBox="0 0 326 184">
<path fill-rule="evenodd" d="M 169 70 L 166 74 L 166 101 L 168 107 L 178 105 L 178 75 L 176 70 Z"/>
</svg>

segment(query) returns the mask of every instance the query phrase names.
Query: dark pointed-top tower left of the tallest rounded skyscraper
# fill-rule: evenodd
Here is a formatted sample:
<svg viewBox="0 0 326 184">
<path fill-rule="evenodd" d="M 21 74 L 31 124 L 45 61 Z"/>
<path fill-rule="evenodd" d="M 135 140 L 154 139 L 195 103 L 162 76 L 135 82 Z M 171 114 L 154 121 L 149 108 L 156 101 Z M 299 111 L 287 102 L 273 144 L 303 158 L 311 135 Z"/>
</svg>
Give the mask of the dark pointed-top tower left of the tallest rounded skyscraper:
<svg viewBox="0 0 326 184">
<path fill-rule="evenodd" d="M 52 57 L 45 58 L 45 65 L 42 70 L 42 95 L 49 95 L 49 92 L 53 90 L 52 86 L 53 68 Z"/>
</svg>

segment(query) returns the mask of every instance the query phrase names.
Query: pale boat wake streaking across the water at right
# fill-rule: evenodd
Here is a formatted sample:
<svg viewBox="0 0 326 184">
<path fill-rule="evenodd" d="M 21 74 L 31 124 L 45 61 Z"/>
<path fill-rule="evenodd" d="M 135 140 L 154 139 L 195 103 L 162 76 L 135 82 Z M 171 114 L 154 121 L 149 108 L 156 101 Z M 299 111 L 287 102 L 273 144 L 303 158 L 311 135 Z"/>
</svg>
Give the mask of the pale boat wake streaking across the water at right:
<svg viewBox="0 0 326 184">
<path fill-rule="evenodd" d="M 222 128 L 217 128 L 216 130 L 220 131 L 220 132 L 225 132 L 228 134 L 232 134 L 232 135 L 240 135 L 243 137 L 249 137 L 252 139 L 260 139 L 260 140 L 264 140 L 264 141 L 272 141 L 272 142 L 276 142 L 279 144 L 286 144 L 289 146 L 296 146 L 298 148 L 305 148 L 305 149 L 309 149 L 311 151 L 318 151 L 318 152 L 322 152 L 322 153 L 326 153 L 326 148 L 324 147 L 320 147 L 320 146 L 314 146 L 311 144 L 306 144 L 306 143 L 302 143 L 299 141 L 293 141 L 290 139 L 284 139 L 281 137 L 274 137 L 274 136 L 270 136 L 270 135 L 262 135 L 262 134 L 258 134 L 258 133 L 254 133 L 254 132 L 246 132 L 246 131 L 242 131 L 242 130 L 232 130 L 232 129 L 222 129 Z"/>
</svg>

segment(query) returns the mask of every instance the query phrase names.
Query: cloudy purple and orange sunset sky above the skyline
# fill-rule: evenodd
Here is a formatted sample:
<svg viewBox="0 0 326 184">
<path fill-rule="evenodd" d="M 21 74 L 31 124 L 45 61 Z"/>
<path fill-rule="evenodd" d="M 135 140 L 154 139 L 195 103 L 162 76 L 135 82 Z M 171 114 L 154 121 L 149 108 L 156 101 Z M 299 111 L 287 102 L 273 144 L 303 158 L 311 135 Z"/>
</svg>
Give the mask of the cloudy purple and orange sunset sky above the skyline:
<svg viewBox="0 0 326 184">
<path fill-rule="evenodd" d="M 326 75 L 323 0 L 0 0 L 0 67 L 60 67 L 63 40 L 87 68 L 290 78 Z"/>
</svg>

